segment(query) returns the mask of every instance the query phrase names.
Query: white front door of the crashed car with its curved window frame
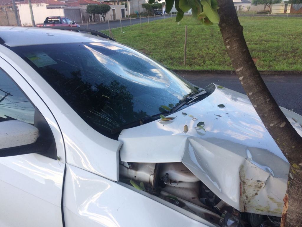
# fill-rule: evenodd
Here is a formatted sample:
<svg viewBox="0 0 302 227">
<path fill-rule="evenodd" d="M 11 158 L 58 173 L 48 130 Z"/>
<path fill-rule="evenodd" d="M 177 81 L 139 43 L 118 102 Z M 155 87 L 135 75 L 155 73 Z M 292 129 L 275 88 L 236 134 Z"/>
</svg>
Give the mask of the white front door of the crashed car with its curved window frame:
<svg viewBox="0 0 302 227">
<path fill-rule="evenodd" d="M 5 47 L 0 45 L 0 52 L 2 48 Z M 0 226 L 61 227 L 65 168 L 61 132 L 52 113 L 32 87 L 2 58 L 0 65 L 43 114 L 56 141 L 57 155 L 62 157 L 60 163 L 36 153 L 0 158 Z"/>
</svg>

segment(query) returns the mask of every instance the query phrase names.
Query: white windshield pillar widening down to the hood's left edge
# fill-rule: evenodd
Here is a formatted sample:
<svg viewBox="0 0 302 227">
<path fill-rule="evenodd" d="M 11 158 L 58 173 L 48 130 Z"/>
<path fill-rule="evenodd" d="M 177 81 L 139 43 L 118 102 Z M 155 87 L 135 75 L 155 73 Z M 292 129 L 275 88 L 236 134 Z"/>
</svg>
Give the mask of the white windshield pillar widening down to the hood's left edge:
<svg viewBox="0 0 302 227">
<path fill-rule="evenodd" d="M 38 29 L 44 31 L 44 28 Z M 31 84 L 56 116 L 63 132 L 68 163 L 118 181 L 118 151 L 121 142 L 92 129 L 32 67 L 0 45 L 0 57 L 2 53 L 6 54 L 5 59 Z"/>
</svg>

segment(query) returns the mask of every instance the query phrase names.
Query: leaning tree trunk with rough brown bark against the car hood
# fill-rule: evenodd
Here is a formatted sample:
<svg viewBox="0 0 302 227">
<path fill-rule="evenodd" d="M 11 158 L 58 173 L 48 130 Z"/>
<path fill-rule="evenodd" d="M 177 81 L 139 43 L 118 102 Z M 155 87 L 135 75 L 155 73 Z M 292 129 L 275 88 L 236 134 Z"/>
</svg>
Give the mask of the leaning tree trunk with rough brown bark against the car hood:
<svg viewBox="0 0 302 227">
<path fill-rule="evenodd" d="M 290 163 L 281 226 L 302 226 L 302 138 L 263 82 L 249 53 L 232 0 L 218 0 L 219 28 L 227 53 L 256 112 Z"/>
</svg>

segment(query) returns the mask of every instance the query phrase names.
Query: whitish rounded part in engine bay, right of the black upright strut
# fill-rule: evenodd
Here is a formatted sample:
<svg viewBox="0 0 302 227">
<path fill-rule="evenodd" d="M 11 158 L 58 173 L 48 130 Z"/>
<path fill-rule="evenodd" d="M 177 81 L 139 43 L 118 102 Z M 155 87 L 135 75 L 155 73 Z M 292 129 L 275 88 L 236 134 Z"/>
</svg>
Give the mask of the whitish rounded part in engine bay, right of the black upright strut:
<svg viewBox="0 0 302 227">
<path fill-rule="evenodd" d="M 181 162 L 175 163 L 162 163 L 160 169 L 160 177 L 169 173 L 171 183 L 182 182 L 198 182 L 199 179 Z"/>
</svg>

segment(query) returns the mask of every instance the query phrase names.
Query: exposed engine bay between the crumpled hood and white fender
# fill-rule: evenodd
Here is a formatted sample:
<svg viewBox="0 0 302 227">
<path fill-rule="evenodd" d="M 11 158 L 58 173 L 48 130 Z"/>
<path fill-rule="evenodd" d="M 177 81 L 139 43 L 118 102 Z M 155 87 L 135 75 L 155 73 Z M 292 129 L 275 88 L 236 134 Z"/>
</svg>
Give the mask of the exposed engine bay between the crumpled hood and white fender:
<svg viewBox="0 0 302 227">
<path fill-rule="evenodd" d="M 221 200 L 183 163 L 120 162 L 120 182 L 222 227 L 279 226 L 280 217 L 240 212 Z M 172 206 L 173 207 L 173 206 Z"/>
</svg>

